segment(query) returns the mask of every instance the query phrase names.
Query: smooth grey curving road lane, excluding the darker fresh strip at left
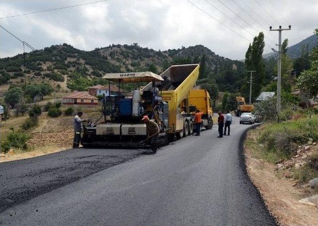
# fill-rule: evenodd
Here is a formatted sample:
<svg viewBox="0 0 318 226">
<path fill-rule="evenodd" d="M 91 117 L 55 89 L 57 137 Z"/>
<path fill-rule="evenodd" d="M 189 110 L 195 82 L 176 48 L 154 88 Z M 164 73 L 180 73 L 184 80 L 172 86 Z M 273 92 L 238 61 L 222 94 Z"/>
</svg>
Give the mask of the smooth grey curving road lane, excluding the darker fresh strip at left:
<svg viewBox="0 0 318 226">
<path fill-rule="evenodd" d="M 140 155 L 101 169 L 7 208 L 0 213 L 0 222 L 14 226 L 274 226 L 275 220 L 242 168 L 239 140 L 248 127 L 235 118 L 231 136 L 216 138 L 215 126 L 200 137 L 189 136 L 162 147 L 156 155 Z"/>
</svg>

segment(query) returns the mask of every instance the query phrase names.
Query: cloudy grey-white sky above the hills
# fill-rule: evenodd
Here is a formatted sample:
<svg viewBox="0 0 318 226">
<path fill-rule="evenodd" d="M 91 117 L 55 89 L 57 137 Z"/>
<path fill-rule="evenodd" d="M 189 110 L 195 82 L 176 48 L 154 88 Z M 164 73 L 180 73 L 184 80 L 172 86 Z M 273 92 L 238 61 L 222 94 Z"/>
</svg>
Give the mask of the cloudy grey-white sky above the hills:
<svg viewBox="0 0 318 226">
<path fill-rule="evenodd" d="M 97 0 L 1 0 L 0 17 Z M 318 28 L 318 0 L 105 0 L 78 7 L 1 18 L 0 25 L 35 49 L 67 43 L 80 50 L 138 43 L 154 50 L 204 45 L 243 59 L 260 31 L 264 53 L 277 49 L 278 32 L 294 45 Z M 26 48 L 27 51 L 29 49 Z M 0 29 L 0 57 L 23 53 L 22 43 Z"/>
</svg>

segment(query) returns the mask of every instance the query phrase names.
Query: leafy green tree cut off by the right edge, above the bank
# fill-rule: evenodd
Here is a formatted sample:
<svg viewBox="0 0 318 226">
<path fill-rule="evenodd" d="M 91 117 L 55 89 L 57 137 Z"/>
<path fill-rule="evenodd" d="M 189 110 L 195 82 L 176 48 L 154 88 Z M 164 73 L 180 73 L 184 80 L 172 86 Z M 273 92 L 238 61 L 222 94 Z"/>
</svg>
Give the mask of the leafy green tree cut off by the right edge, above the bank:
<svg viewBox="0 0 318 226">
<path fill-rule="evenodd" d="M 315 33 L 318 35 L 318 29 L 315 29 Z M 318 47 L 311 51 L 310 57 L 310 68 L 301 72 L 297 85 L 311 98 L 318 95 Z"/>
</svg>

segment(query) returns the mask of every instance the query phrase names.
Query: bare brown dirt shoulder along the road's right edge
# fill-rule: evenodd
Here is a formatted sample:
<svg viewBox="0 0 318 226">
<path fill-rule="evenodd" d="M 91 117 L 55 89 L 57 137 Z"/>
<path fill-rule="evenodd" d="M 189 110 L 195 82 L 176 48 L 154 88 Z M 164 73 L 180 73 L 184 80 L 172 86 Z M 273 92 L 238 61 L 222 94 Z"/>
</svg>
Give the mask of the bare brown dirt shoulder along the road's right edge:
<svg viewBox="0 0 318 226">
<path fill-rule="evenodd" d="M 247 138 L 250 138 L 250 131 Z M 246 170 L 253 184 L 280 225 L 318 225 L 318 209 L 299 202 L 304 198 L 304 190 L 295 182 L 280 176 L 275 165 L 256 158 L 253 150 L 244 145 Z"/>
</svg>

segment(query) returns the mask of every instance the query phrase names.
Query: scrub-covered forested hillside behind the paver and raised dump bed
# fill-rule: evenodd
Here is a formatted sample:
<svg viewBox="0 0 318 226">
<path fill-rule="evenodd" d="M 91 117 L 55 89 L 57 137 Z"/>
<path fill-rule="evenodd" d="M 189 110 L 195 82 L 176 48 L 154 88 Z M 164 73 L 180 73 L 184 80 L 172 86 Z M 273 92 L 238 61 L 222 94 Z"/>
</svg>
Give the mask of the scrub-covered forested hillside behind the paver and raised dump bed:
<svg viewBox="0 0 318 226">
<path fill-rule="evenodd" d="M 104 83 L 100 77 L 109 72 L 162 72 L 172 63 L 201 62 L 200 78 L 214 78 L 220 89 L 239 89 L 238 76 L 243 62 L 218 56 L 208 48 L 197 45 L 189 48 L 155 51 L 138 44 L 111 45 L 93 51 L 81 51 L 63 44 L 36 50 L 25 55 L 0 59 L 0 85 L 49 82 L 53 88 L 85 90 Z M 24 81 L 24 71 L 26 81 Z"/>
</svg>

